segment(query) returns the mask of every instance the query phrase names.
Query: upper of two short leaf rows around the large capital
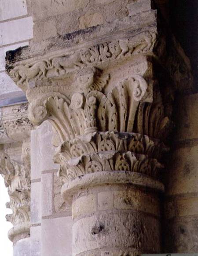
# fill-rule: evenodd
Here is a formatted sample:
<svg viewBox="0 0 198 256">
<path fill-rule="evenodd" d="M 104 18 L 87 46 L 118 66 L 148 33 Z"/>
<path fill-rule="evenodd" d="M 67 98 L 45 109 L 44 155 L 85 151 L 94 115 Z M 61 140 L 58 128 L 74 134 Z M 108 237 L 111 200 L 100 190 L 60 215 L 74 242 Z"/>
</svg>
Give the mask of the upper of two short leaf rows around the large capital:
<svg viewBox="0 0 198 256">
<path fill-rule="evenodd" d="M 64 141 L 57 152 L 64 152 L 66 160 L 92 155 L 97 152 L 135 152 L 151 158 L 160 159 L 165 151 L 165 145 L 158 140 L 152 140 L 146 135 L 118 132 L 95 132 L 82 135 L 71 141 Z M 59 155 L 59 153 L 58 153 Z M 57 154 L 55 155 L 56 158 Z"/>
</svg>

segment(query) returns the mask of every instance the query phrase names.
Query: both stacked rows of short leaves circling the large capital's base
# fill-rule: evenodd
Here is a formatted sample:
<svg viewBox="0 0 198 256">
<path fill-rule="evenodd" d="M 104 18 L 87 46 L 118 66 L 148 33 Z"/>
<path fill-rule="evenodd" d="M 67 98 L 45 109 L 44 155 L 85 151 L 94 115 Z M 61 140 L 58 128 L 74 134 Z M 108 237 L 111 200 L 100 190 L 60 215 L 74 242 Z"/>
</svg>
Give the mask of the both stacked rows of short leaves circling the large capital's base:
<svg viewBox="0 0 198 256">
<path fill-rule="evenodd" d="M 63 183 L 96 171 L 135 171 L 158 175 L 163 144 L 141 134 L 100 132 L 65 141 L 57 148 L 55 163 L 60 164 Z"/>
</svg>

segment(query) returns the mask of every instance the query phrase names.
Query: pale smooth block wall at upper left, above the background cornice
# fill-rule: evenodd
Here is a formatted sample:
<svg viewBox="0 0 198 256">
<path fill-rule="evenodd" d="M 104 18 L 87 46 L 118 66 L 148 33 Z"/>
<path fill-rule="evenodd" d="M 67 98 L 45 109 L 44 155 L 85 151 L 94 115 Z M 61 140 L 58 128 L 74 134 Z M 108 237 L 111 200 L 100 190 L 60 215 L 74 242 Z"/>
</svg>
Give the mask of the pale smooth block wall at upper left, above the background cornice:
<svg viewBox="0 0 198 256">
<path fill-rule="evenodd" d="M 21 92 L 5 73 L 5 52 L 29 45 L 31 38 L 33 20 L 26 0 L 0 0 L 0 100 Z"/>
</svg>

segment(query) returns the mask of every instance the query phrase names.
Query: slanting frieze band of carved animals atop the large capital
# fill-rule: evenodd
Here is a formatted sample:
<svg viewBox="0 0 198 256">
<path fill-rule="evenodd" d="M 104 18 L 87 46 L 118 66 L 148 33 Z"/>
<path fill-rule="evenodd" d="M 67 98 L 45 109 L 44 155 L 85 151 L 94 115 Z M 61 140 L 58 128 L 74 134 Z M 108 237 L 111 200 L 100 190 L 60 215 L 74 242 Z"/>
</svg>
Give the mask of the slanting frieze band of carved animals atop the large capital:
<svg viewBox="0 0 198 256">
<path fill-rule="evenodd" d="M 155 41 L 155 33 L 141 32 L 132 38 L 104 42 L 58 57 L 16 66 L 11 70 L 10 76 L 19 87 L 25 89 L 24 85 L 31 80 L 60 77 L 82 68 L 97 66 L 106 61 L 152 51 Z"/>
</svg>

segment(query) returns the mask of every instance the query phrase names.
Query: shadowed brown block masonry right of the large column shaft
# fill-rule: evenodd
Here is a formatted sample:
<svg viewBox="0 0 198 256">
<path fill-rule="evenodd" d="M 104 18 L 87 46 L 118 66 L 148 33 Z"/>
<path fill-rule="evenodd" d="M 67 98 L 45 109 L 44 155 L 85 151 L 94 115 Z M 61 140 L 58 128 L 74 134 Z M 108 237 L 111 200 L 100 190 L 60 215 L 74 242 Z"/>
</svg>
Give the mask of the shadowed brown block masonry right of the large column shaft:
<svg viewBox="0 0 198 256">
<path fill-rule="evenodd" d="M 198 250 L 198 94 L 180 98 L 165 203 L 165 251 Z"/>
</svg>

